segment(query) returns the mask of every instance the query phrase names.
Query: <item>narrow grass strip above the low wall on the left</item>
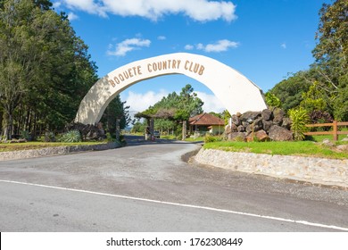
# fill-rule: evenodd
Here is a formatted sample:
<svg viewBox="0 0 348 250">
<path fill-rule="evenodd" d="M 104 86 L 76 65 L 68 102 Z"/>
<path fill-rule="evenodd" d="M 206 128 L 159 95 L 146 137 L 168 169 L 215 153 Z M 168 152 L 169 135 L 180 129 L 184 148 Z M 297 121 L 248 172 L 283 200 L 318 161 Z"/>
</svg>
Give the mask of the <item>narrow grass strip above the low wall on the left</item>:
<svg viewBox="0 0 348 250">
<path fill-rule="evenodd" d="M 28 149 L 40 149 L 53 146 L 80 146 L 80 145 L 97 145 L 104 144 L 103 142 L 76 142 L 76 143 L 63 143 L 63 142 L 25 142 L 25 143 L 0 143 L 0 152 L 6 151 L 18 151 Z"/>
</svg>

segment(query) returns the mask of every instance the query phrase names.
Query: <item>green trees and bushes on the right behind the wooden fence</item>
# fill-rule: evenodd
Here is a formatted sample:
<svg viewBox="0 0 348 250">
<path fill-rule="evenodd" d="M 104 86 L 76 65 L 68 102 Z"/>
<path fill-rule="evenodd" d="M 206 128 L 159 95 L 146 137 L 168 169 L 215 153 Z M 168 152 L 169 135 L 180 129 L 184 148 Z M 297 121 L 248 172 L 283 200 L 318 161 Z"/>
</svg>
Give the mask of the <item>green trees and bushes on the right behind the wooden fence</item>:
<svg viewBox="0 0 348 250">
<path fill-rule="evenodd" d="M 311 122 L 348 121 L 348 2 L 319 10 L 315 62 L 269 90 L 269 104 L 304 110 Z"/>
</svg>

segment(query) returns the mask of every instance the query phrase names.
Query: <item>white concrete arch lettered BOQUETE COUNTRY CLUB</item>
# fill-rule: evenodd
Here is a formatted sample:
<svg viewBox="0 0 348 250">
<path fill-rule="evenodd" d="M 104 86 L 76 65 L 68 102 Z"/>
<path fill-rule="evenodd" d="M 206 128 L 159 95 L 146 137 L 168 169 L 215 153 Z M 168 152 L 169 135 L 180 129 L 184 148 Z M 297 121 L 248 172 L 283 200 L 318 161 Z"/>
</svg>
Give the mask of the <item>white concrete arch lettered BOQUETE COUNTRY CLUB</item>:
<svg viewBox="0 0 348 250">
<path fill-rule="evenodd" d="M 95 124 L 120 92 L 139 81 L 169 74 L 203 83 L 231 114 L 267 108 L 260 87 L 228 65 L 199 54 L 175 53 L 128 63 L 99 79 L 79 104 L 75 122 Z"/>
</svg>

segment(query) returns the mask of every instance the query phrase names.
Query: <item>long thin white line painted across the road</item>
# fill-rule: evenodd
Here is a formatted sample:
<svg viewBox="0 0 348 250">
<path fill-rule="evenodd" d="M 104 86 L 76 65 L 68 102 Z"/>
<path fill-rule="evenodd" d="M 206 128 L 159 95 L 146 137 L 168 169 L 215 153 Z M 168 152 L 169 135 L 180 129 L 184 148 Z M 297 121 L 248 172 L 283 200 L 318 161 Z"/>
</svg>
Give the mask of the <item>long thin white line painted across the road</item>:
<svg viewBox="0 0 348 250">
<path fill-rule="evenodd" d="M 213 208 L 213 207 L 209 207 L 209 206 L 200 206 L 200 205 L 194 205 L 194 204 L 170 203 L 170 202 L 164 202 L 164 201 L 158 201 L 158 200 L 152 200 L 152 199 L 145 199 L 145 198 L 138 198 L 138 197 L 132 197 L 132 196 L 119 196 L 119 195 L 112 195 L 112 194 L 106 194 L 106 193 L 100 193 L 100 192 L 94 192 L 94 191 L 87 191 L 87 190 L 82 190 L 82 189 L 74 189 L 74 188 L 67 188 L 67 187 L 54 187 L 54 186 L 47 186 L 47 185 L 41 185 L 41 184 L 35 184 L 35 183 L 27 183 L 27 182 L 20 182 L 20 181 L 12 181 L 12 180 L 5 180 L 5 179 L 0 179 L 0 182 L 28 185 L 28 186 L 34 186 L 34 187 L 47 187 L 47 188 L 53 188 L 53 189 L 58 189 L 58 190 L 79 192 L 79 193 L 98 195 L 98 196 L 111 196 L 111 197 L 116 197 L 116 198 L 135 200 L 135 201 L 142 201 L 142 202 L 155 203 L 155 204 L 169 204 L 169 205 L 175 205 L 175 206 L 181 206 L 181 207 L 203 209 L 203 210 L 208 210 L 208 211 L 213 211 L 213 212 L 227 212 L 227 213 L 233 213 L 233 214 L 238 214 L 238 215 L 244 215 L 244 216 L 257 217 L 257 218 L 262 218 L 262 219 L 268 219 L 268 220 L 273 220 L 273 221 L 285 221 L 285 222 L 302 224 L 302 225 L 307 225 L 307 226 L 312 226 L 312 227 L 324 228 L 324 229 L 337 229 L 337 230 L 348 231 L 348 228 L 338 227 L 338 226 L 334 226 L 334 225 L 325 225 L 325 224 L 314 223 L 314 222 L 309 222 L 309 221 L 290 220 L 290 219 L 273 217 L 273 216 L 268 216 L 268 215 L 254 214 L 254 213 L 250 213 L 250 212 L 237 212 L 237 211 L 232 211 L 232 210 Z"/>
</svg>

